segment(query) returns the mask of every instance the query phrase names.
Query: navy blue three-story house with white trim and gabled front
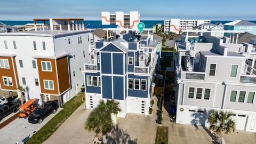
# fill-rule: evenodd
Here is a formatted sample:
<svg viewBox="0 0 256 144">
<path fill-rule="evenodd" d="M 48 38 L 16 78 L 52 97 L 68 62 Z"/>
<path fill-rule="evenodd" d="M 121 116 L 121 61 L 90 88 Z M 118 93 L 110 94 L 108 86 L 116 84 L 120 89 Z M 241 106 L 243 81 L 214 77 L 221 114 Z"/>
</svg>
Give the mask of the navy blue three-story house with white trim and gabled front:
<svg viewBox="0 0 256 144">
<path fill-rule="evenodd" d="M 97 107 L 101 99 L 114 99 L 122 108 L 119 117 L 148 115 L 159 46 L 154 35 L 135 35 L 135 31 L 110 42 L 91 43 L 92 57 L 83 71 L 86 108 Z"/>
</svg>

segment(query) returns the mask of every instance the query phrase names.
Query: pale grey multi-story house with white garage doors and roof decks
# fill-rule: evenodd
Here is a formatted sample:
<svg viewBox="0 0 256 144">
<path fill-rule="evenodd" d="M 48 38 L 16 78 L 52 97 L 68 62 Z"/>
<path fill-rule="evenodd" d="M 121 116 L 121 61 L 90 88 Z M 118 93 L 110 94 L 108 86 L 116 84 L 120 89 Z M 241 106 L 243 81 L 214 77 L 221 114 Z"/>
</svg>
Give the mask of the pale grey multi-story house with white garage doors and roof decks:
<svg viewBox="0 0 256 144">
<path fill-rule="evenodd" d="M 256 51 L 204 33 L 204 42 L 177 42 L 177 123 L 208 126 L 212 110 L 234 113 L 236 129 L 256 132 Z M 227 37 L 226 37 L 227 38 Z"/>
</svg>

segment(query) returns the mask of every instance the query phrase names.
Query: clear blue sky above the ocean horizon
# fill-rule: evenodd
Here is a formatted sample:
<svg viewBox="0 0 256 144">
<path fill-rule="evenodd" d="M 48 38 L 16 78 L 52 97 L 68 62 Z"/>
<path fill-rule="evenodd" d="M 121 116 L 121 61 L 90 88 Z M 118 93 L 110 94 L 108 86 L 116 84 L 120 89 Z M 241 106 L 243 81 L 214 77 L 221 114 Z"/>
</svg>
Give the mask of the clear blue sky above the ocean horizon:
<svg viewBox="0 0 256 144">
<path fill-rule="evenodd" d="M 141 20 L 256 20 L 255 0 L 0 0 L 0 20 L 84 18 L 100 20 L 101 11 L 139 11 Z"/>
</svg>

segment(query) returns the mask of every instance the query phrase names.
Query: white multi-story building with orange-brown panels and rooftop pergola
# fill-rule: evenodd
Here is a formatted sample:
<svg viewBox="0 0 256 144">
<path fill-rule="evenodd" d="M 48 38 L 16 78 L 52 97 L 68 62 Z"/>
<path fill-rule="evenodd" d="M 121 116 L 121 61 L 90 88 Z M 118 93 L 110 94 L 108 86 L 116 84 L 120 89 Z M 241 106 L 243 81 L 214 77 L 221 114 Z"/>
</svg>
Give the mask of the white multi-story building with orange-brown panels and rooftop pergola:
<svg viewBox="0 0 256 144">
<path fill-rule="evenodd" d="M 50 25 L 37 27 L 37 21 L 47 20 Z M 17 91 L 21 85 L 26 100 L 58 100 L 62 105 L 84 83 L 81 70 L 91 59 L 87 47 L 93 31 L 84 29 L 83 19 L 34 21 L 34 31 L 0 34 L 1 90 Z"/>
</svg>

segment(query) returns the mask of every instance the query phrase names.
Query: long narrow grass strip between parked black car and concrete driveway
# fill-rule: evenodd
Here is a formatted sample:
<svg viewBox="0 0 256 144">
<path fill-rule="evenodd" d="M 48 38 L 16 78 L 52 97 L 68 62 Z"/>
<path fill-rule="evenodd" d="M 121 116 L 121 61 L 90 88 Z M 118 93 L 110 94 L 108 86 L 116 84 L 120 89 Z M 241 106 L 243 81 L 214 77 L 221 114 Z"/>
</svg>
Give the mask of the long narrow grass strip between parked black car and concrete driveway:
<svg viewBox="0 0 256 144">
<path fill-rule="evenodd" d="M 82 105 L 84 93 L 79 93 L 74 98 L 66 102 L 58 114 L 56 114 L 48 123 L 46 123 L 39 131 L 37 131 L 28 141 L 27 144 L 43 143 L 46 139 L 63 124 L 73 112 Z"/>
</svg>

